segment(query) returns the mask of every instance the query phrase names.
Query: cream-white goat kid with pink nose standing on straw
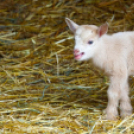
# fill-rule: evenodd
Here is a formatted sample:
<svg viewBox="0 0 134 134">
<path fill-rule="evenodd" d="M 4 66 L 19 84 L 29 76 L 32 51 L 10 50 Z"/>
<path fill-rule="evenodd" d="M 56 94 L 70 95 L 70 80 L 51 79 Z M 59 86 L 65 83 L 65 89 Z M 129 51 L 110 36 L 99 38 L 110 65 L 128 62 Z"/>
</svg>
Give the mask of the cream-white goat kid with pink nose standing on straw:
<svg viewBox="0 0 134 134">
<path fill-rule="evenodd" d="M 128 76 L 134 74 L 134 32 L 107 35 L 107 24 L 97 27 L 65 21 L 75 35 L 75 59 L 92 59 L 110 78 L 106 119 L 117 119 L 119 101 L 121 117 L 131 115 Z"/>
</svg>

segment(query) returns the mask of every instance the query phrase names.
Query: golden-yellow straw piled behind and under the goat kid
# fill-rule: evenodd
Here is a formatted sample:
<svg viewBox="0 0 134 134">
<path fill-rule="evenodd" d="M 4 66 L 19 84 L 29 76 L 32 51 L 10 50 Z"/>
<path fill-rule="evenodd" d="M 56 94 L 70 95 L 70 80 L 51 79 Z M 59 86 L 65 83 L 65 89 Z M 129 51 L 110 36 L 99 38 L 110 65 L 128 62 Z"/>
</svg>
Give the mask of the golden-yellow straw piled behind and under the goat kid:
<svg viewBox="0 0 134 134">
<path fill-rule="evenodd" d="M 134 115 L 102 120 L 109 81 L 90 62 L 74 60 L 64 19 L 107 21 L 113 33 L 134 30 L 133 14 L 133 0 L 1 1 L 0 133 L 132 134 Z"/>
</svg>

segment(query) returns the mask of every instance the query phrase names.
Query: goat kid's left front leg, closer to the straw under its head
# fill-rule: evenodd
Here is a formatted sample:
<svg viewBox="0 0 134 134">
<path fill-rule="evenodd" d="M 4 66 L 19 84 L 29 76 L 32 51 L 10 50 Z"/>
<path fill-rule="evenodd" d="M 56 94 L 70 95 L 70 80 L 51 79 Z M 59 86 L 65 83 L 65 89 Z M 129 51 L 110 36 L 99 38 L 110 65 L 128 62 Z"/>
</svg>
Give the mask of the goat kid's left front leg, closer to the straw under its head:
<svg viewBox="0 0 134 134">
<path fill-rule="evenodd" d="M 113 75 L 110 77 L 110 86 L 108 88 L 108 105 L 106 108 L 106 119 L 116 120 L 118 116 L 118 104 L 120 100 L 121 88 L 124 86 L 126 77 L 122 75 Z"/>
</svg>

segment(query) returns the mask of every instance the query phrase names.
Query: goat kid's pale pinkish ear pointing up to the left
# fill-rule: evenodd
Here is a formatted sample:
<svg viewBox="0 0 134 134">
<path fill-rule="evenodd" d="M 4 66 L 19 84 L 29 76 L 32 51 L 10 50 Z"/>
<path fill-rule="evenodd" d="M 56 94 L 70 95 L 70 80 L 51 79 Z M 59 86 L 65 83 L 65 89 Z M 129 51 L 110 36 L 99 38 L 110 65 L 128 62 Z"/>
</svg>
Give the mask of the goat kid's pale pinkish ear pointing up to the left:
<svg viewBox="0 0 134 134">
<path fill-rule="evenodd" d="M 76 29 L 79 27 L 79 25 L 77 25 L 75 22 L 73 22 L 72 20 L 68 19 L 68 18 L 65 18 L 65 21 L 69 27 L 69 29 L 75 33 L 76 32 Z"/>
</svg>

